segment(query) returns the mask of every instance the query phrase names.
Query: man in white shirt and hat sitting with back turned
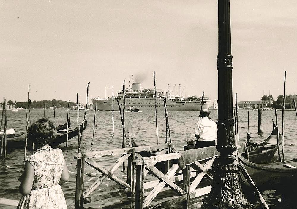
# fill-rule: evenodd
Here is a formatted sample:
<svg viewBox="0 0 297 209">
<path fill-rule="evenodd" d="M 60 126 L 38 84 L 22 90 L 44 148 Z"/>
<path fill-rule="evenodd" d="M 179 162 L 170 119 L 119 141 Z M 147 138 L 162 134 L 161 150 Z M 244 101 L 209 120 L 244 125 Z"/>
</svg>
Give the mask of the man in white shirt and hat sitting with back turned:
<svg viewBox="0 0 297 209">
<path fill-rule="evenodd" d="M 215 146 L 217 140 L 217 124 L 209 116 L 211 111 L 202 109 L 195 128 L 195 137 L 198 139 L 196 148 Z"/>
</svg>

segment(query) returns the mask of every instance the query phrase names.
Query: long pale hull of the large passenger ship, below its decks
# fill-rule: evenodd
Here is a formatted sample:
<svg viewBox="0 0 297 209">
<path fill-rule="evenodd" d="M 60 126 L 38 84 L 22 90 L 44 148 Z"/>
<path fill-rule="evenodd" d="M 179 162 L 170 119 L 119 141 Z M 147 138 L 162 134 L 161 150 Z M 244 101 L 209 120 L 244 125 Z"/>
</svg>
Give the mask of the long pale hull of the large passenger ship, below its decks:
<svg viewBox="0 0 297 209">
<path fill-rule="evenodd" d="M 113 110 L 119 111 L 119 106 L 116 100 L 112 101 L 112 98 L 106 99 L 92 99 L 93 107 L 97 103 L 97 110 Z M 123 100 L 119 100 L 121 110 L 123 110 Z M 155 111 L 155 98 L 127 98 L 125 100 L 126 108 L 138 108 L 140 111 Z M 202 109 L 208 109 L 210 101 L 204 101 Z M 201 101 L 172 101 L 166 100 L 167 111 L 200 111 Z M 157 99 L 157 110 L 164 111 L 164 103 L 162 98 Z"/>
</svg>

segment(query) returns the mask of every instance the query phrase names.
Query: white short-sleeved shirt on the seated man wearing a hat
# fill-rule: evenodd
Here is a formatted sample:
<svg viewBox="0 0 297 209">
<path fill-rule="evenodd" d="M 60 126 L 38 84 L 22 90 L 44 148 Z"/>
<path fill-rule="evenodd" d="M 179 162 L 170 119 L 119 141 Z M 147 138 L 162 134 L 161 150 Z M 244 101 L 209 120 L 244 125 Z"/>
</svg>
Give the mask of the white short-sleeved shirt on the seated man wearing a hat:
<svg viewBox="0 0 297 209">
<path fill-rule="evenodd" d="M 195 134 L 199 135 L 198 141 L 217 140 L 217 124 L 207 116 L 198 121 L 195 128 Z"/>
</svg>

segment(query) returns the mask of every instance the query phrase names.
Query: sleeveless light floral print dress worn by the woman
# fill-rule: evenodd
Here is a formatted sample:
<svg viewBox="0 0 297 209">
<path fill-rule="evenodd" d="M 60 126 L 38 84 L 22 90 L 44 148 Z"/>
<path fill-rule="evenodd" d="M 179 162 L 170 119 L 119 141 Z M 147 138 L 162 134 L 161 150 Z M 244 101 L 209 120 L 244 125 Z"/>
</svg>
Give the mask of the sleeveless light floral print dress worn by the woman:
<svg viewBox="0 0 297 209">
<path fill-rule="evenodd" d="M 27 156 L 34 167 L 32 190 L 22 196 L 17 209 L 67 209 L 59 181 L 65 164 L 61 149 L 45 149 Z"/>
</svg>

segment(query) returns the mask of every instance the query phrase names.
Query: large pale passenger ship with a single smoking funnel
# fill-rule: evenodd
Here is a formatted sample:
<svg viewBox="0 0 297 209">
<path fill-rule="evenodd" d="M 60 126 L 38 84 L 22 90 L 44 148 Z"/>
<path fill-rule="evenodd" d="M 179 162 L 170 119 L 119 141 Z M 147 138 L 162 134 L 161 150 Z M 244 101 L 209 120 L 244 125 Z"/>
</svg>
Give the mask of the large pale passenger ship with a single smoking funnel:
<svg viewBox="0 0 297 209">
<path fill-rule="evenodd" d="M 155 90 L 152 88 L 144 89 L 140 83 L 132 83 L 132 79 L 129 80 L 129 88 L 125 89 L 125 109 L 138 108 L 140 111 L 155 111 Z M 163 98 L 166 99 L 166 106 L 168 111 L 200 111 L 202 109 L 208 109 L 210 106 L 210 98 L 204 97 L 203 104 L 202 98 L 196 96 L 189 96 L 183 98 L 181 96 L 180 85 L 179 95 L 171 95 L 168 84 L 168 90 L 157 90 L 157 110 L 164 111 Z M 123 110 L 123 90 L 118 91 L 118 96 L 111 96 L 106 98 L 91 98 L 93 102 L 93 108 L 97 103 L 97 110 L 113 110 L 119 111 L 119 106 L 116 100 L 119 100 L 121 110 Z"/>
</svg>

